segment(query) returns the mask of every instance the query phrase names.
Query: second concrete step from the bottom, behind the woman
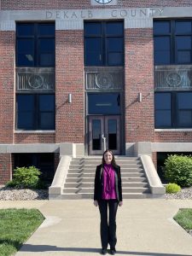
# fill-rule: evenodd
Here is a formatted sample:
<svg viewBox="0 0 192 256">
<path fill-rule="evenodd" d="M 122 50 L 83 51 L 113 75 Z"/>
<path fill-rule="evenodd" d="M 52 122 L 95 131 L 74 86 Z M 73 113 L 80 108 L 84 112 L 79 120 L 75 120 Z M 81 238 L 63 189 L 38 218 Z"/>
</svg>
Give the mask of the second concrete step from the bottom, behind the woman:
<svg viewBox="0 0 192 256">
<path fill-rule="evenodd" d="M 93 193 L 93 188 L 64 188 L 62 189 L 63 194 L 79 194 L 79 193 Z M 122 189 L 123 194 L 124 193 L 148 193 L 150 192 L 150 189 L 148 188 L 123 188 Z"/>
</svg>

